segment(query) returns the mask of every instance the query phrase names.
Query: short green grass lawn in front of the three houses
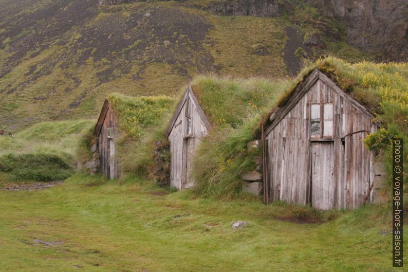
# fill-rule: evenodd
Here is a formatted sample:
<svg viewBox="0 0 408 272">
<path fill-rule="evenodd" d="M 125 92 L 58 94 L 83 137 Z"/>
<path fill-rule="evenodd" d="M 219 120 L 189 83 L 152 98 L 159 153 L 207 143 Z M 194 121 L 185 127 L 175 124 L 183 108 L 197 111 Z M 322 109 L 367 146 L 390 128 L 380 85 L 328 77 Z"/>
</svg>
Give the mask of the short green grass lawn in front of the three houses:
<svg viewBox="0 0 408 272">
<path fill-rule="evenodd" d="M 392 267 L 378 206 L 296 224 L 276 219 L 283 204 L 158 191 L 83 174 L 41 191 L 0 190 L 0 270 L 404 271 Z M 237 220 L 248 226 L 232 229 Z"/>
</svg>

